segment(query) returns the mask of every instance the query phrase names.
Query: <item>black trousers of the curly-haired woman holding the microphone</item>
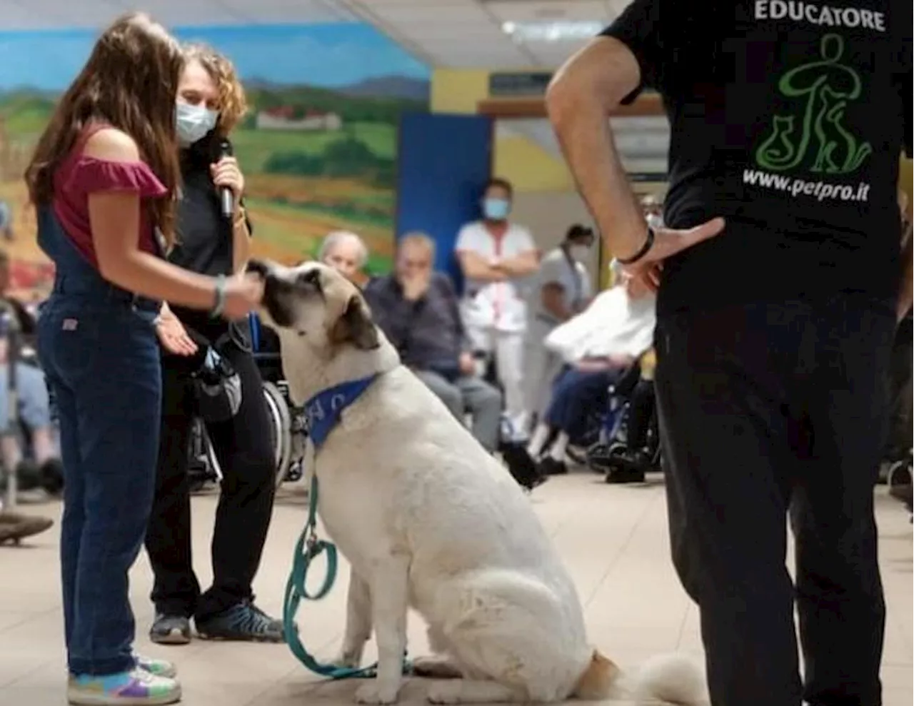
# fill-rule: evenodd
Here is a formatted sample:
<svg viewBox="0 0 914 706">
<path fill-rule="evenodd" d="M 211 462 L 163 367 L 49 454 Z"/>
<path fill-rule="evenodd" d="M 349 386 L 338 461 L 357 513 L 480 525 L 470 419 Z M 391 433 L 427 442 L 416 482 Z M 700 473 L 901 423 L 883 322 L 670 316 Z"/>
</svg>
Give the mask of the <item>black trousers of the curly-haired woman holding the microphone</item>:
<svg viewBox="0 0 914 706">
<path fill-rule="evenodd" d="M 223 480 L 213 532 L 213 585 L 203 595 L 191 557 L 187 478 L 193 390 L 186 364 L 163 356 L 162 432 L 146 551 L 155 574 L 156 611 L 169 616 L 202 619 L 252 599 L 251 584 L 270 527 L 275 462 L 260 372 L 250 353 L 233 344 L 220 353 L 239 374 L 242 401 L 231 420 L 207 425 Z"/>
</svg>

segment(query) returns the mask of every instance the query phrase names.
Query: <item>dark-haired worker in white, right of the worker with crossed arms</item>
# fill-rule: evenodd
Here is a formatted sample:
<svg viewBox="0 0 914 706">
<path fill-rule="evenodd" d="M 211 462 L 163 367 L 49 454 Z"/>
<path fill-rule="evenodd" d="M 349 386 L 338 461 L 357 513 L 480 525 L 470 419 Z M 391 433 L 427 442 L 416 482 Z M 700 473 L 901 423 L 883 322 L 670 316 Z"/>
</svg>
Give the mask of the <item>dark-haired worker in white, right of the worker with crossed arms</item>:
<svg viewBox="0 0 914 706">
<path fill-rule="evenodd" d="M 590 259 L 592 247 L 592 228 L 575 224 L 558 248 L 543 258 L 537 274 L 537 292 L 526 337 L 527 410 L 537 419 L 542 419 L 552 384 L 563 365 L 562 359 L 549 351 L 544 342 L 556 326 L 590 304 L 593 287 L 584 263 Z"/>
</svg>

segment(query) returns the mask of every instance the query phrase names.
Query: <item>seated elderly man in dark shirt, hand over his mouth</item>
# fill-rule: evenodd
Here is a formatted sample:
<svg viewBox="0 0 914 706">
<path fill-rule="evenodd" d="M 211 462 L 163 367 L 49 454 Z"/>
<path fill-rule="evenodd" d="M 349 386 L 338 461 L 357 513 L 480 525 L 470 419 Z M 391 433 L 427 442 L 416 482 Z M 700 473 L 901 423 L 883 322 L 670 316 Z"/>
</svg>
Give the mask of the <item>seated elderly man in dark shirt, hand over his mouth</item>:
<svg viewBox="0 0 914 706">
<path fill-rule="evenodd" d="M 435 244 L 421 233 L 402 237 L 392 275 L 368 282 L 365 297 L 377 325 L 408 365 L 461 421 L 473 417 L 473 436 L 488 451 L 498 446 L 502 399 L 476 377 L 471 346 L 451 279 L 432 271 Z"/>
</svg>

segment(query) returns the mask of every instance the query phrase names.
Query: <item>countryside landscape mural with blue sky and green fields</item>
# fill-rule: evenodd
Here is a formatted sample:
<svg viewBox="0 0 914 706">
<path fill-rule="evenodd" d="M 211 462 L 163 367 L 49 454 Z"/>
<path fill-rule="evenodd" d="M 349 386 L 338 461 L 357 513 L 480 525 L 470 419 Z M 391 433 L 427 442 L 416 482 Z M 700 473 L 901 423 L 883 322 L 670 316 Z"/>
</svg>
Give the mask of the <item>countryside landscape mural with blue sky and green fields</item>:
<svg viewBox="0 0 914 706">
<path fill-rule="evenodd" d="M 369 271 L 389 269 L 399 114 L 428 110 L 430 70 L 361 23 L 186 27 L 175 35 L 218 48 L 244 81 L 250 112 L 232 139 L 255 253 L 301 260 L 326 233 L 346 229 L 365 238 Z M 40 296 L 52 278 L 22 173 L 94 40 L 90 30 L 0 32 L 0 247 L 22 293 Z"/>
</svg>

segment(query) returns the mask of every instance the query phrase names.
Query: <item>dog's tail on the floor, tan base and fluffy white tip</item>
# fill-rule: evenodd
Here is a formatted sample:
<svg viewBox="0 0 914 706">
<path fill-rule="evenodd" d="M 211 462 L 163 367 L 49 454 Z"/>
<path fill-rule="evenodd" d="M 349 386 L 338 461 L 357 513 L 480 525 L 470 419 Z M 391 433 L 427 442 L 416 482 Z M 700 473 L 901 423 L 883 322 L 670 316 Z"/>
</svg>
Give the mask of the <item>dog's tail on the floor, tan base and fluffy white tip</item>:
<svg viewBox="0 0 914 706">
<path fill-rule="evenodd" d="M 682 655 L 655 657 L 630 676 L 623 675 L 622 669 L 596 649 L 571 696 L 581 701 L 624 697 L 639 704 L 710 704 L 704 669 L 691 659 Z"/>
</svg>

